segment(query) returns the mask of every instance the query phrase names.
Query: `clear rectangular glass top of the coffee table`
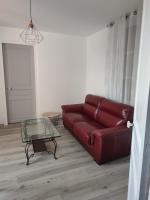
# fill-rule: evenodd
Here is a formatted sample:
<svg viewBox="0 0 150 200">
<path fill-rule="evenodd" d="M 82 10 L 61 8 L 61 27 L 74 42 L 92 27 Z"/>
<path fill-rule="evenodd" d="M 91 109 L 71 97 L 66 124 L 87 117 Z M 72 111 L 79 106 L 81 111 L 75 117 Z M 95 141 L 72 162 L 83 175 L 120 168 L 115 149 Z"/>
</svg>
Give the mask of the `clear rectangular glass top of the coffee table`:
<svg viewBox="0 0 150 200">
<path fill-rule="evenodd" d="M 28 119 L 22 122 L 22 142 L 60 137 L 59 132 L 48 118 Z"/>
</svg>

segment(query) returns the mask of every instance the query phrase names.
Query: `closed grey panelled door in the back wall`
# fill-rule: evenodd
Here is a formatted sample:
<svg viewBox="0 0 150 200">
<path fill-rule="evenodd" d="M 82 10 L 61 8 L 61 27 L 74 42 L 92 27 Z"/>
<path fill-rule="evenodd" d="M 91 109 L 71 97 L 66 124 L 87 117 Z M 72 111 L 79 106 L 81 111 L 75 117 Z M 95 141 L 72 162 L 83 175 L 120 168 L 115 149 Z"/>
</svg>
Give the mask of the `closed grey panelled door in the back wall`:
<svg viewBox="0 0 150 200">
<path fill-rule="evenodd" d="M 3 44 L 3 61 L 8 122 L 35 117 L 33 47 Z"/>
</svg>

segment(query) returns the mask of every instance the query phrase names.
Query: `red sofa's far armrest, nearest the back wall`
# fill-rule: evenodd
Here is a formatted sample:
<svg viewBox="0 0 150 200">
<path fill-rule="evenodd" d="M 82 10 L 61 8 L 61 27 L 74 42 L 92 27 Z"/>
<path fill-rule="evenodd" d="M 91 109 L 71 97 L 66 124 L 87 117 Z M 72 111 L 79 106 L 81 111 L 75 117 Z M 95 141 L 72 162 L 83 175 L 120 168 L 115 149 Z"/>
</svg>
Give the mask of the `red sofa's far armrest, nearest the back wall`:
<svg viewBox="0 0 150 200">
<path fill-rule="evenodd" d="M 84 104 L 70 104 L 70 105 L 62 105 L 61 108 L 64 113 L 68 112 L 77 112 L 81 113 Z"/>
</svg>

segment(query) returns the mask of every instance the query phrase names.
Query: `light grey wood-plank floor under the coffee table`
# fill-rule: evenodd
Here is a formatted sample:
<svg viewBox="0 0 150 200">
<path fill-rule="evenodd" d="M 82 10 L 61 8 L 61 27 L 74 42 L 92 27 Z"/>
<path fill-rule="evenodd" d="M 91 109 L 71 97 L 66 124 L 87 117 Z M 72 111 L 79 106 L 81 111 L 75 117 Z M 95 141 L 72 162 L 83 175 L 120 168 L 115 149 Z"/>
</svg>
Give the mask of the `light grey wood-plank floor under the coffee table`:
<svg viewBox="0 0 150 200">
<path fill-rule="evenodd" d="M 25 165 L 20 127 L 0 129 L 0 200 L 126 200 L 129 158 L 97 165 L 60 124 L 58 160 Z"/>
</svg>

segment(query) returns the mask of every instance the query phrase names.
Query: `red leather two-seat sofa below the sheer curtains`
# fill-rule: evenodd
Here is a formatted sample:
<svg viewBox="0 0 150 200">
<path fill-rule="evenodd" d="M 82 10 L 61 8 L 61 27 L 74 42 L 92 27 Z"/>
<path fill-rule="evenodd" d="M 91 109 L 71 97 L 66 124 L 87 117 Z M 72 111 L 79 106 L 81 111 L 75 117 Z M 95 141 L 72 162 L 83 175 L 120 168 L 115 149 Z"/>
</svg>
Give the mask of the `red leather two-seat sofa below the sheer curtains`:
<svg viewBox="0 0 150 200">
<path fill-rule="evenodd" d="M 63 105 L 63 124 L 98 164 L 130 154 L 133 107 L 87 95 L 85 103 Z"/>
</svg>

